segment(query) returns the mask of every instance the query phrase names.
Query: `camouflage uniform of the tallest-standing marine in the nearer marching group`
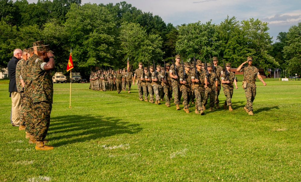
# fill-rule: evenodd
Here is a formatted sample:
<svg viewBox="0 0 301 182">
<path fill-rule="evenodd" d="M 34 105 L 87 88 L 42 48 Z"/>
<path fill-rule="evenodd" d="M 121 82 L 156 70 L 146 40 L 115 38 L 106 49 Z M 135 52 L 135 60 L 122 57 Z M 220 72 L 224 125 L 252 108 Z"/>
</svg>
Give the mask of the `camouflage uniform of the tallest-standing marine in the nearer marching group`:
<svg viewBox="0 0 301 182">
<path fill-rule="evenodd" d="M 180 70 L 182 69 L 182 65 L 181 64 L 176 65 L 176 69 L 177 69 L 178 78 L 177 79 L 171 78 L 171 84 L 172 84 L 172 90 L 174 92 L 174 104 L 180 104 L 182 93 L 180 91 L 181 84 L 180 84 L 179 75 L 181 74 Z M 175 76 L 174 65 L 171 65 L 169 72 L 172 73 L 173 76 Z"/>
</svg>

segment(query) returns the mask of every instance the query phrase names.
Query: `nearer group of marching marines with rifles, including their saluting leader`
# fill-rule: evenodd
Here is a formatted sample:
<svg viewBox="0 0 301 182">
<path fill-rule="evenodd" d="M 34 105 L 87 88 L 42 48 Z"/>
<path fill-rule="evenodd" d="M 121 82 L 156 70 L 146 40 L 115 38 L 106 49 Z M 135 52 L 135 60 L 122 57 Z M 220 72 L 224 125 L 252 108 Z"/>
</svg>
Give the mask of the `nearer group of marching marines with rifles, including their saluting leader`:
<svg viewBox="0 0 301 182">
<path fill-rule="evenodd" d="M 165 105 L 170 107 L 172 93 L 174 93 L 174 104 L 176 110 L 180 110 L 180 100 L 183 97 L 183 110 L 189 113 L 190 102 L 195 104 L 195 113 L 204 115 L 207 101 L 209 99 L 209 111 L 213 111 L 219 106 L 218 96 L 221 86 L 224 90 L 226 100 L 224 109 L 233 111 L 231 99 L 233 96 L 234 86 L 237 89 L 237 78 L 230 71 L 231 64 L 224 63 L 224 69 L 218 65 L 218 58 L 213 57 L 211 62 L 206 60 L 196 60 L 194 63 L 180 62 L 180 55 L 175 56 L 173 64 L 169 63 L 161 65 L 151 65 L 143 67 L 143 63 L 139 62 L 139 68 L 134 71 L 133 85 L 137 84 L 140 101 L 151 102 L 160 105 L 165 99 Z M 248 62 L 248 65 L 243 66 Z M 252 57 L 247 57 L 247 61 L 237 68 L 238 72 L 243 71 L 243 89 L 245 90 L 247 103 L 244 110 L 249 115 L 252 113 L 252 102 L 256 96 L 256 76 L 266 85 L 260 76 L 258 69 L 252 66 Z M 117 73 L 118 74 L 118 73 Z M 119 92 L 118 92 L 119 93 Z M 155 96 L 154 96 L 155 95 Z M 144 99 L 143 99 L 144 96 Z M 154 102 L 155 100 L 155 102 Z"/>
</svg>

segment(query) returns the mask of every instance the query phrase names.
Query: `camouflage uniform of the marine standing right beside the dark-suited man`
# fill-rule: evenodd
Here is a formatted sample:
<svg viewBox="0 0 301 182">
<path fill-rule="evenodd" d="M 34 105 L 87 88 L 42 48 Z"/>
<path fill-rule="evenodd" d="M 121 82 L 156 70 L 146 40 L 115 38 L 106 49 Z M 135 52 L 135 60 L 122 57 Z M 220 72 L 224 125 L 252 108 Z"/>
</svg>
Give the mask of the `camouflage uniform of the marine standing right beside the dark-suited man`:
<svg viewBox="0 0 301 182">
<path fill-rule="evenodd" d="M 27 51 L 23 51 L 23 52 L 27 52 Z M 21 84 L 21 79 L 20 79 L 20 75 L 21 75 L 21 70 L 23 68 L 25 60 L 21 59 L 20 61 L 18 61 L 17 65 L 16 65 L 16 84 L 17 84 L 17 91 L 21 96 L 21 112 L 20 112 L 20 125 L 25 125 L 26 122 L 26 117 L 24 116 L 27 112 L 27 107 L 26 107 L 26 97 L 25 97 L 25 93 L 24 93 L 24 88 Z M 22 78 L 22 77 L 21 77 Z M 23 80 L 23 79 L 22 79 Z"/>
</svg>

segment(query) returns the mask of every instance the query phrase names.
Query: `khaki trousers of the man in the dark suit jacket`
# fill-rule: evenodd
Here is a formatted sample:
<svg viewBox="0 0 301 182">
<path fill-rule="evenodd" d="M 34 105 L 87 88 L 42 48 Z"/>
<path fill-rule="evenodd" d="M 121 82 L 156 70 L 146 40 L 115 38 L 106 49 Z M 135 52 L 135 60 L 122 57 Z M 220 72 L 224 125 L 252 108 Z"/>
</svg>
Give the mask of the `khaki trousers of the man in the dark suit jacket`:
<svg viewBox="0 0 301 182">
<path fill-rule="evenodd" d="M 21 114 L 21 96 L 18 92 L 11 92 L 11 122 L 19 125 Z"/>
</svg>

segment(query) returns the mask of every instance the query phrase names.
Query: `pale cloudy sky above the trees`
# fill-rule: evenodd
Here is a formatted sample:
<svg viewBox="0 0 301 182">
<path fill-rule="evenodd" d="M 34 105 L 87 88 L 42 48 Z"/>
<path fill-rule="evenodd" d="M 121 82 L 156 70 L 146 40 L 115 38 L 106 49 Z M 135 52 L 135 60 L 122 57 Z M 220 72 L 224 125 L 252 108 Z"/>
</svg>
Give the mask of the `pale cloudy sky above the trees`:
<svg viewBox="0 0 301 182">
<path fill-rule="evenodd" d="M 82 4 L 96 3 L 114 5 L 122 0 L 82 0 Z M 36 0 L 28 0 L 36 2 Z M 288 29 L 301 21 L 300 0 L 126 0 L 128 4 L 142 10 L 159 15 L 163 21 L 174 26 L 188 23 L 201 23 L 212 20 L 219 24 L 227 16 L 237 20 L 259 19 L 268 23 L 268 32 L 277 41 L 279 32 Z"/>
</svg>

